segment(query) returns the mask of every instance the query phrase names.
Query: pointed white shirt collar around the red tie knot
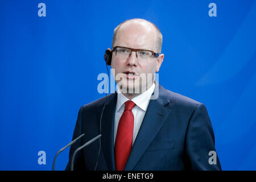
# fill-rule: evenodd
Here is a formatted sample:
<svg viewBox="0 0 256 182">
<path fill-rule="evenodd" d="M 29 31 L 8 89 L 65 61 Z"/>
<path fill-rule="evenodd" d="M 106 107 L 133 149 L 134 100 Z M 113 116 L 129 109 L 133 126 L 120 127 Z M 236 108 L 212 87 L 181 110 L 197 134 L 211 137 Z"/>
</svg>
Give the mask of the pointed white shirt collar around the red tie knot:
<svg viewBox="0 0 256 182">
<path fill-rule="evenodd" d="M 126 102 L 129 101 L 129 98 L 125 97 L 121 92 L 119 92 L 118 89 L 118 94 L 117 94 L 117 106 L 115 108 L 115 111 L 118 112 L 119 109 L 122 107 L 122 105 Z M 140 107 L 142 110 L 146 111 L 148 103 L 150 102 L 150 97 L 152 93 L 154 92 L 155 89 L 155 83 L 150 86 L 149 89 L 147 89 L 145 92 L 142 94 L 139 94 L 139 96 L 134 97 L 131 101 L 133 101 L 138 107 Z"/>
</svg>

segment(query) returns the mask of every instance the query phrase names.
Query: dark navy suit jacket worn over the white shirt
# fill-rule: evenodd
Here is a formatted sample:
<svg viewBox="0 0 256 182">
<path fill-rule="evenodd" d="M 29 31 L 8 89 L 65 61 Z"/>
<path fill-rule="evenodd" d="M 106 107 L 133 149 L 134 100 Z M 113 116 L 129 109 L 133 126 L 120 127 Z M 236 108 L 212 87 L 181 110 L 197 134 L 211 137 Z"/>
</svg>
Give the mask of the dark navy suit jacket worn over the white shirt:
<svg viewBox="0 0 256 182">
<path fill-rule="evenodd" d="M 115 170 L 114 114 L 117 93 L 109 94 L 101 121 L 101 150 L 97 170 Z M 100 134 L 100 117 L 105 97 L 80 108 L 71 146 L 69 163 L 76 148 Z M 74 169 L 94 170 L 100 140 L 77 153 Z M 216 151 L 214 134 L 206 107 L 159 85 L 159 98 L 150 100 L 133 144 L 125 170 L 221 170 L 209 164 L 209 151 Z"/>
</svg>

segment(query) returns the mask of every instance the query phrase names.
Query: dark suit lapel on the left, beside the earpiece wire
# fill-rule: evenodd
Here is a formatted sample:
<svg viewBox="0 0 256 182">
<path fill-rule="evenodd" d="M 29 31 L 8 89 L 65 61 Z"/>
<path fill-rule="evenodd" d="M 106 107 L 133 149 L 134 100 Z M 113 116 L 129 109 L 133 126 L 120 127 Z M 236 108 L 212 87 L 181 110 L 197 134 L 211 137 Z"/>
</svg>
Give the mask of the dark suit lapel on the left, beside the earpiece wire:
<svg viewBox="0 0 256 182">
<path fill-rule="evenodd" d="M 115 105 L 117 102 L 117 93 L 110 94 L 108 96 L 108 101 L 106 102 L 106 106 L 104 112 L 102 114 L 101 120 L 101 146 L 104 152 L 104 156 L 106 159 L 106 163 L 108 164 L 108 170 L 115 170 L 115 162 L 114 162 L 114 114 L 115 114 Z M 100 121 L 101 112 L 98 111 L 98 118 Z"/>
</svg>

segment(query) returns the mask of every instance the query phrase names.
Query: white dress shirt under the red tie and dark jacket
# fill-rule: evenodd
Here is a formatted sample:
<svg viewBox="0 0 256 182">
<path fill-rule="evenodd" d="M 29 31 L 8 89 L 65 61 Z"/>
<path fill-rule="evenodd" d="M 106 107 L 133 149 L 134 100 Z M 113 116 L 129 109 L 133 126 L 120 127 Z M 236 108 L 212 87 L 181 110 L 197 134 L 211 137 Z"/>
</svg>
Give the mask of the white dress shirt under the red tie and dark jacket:
<svg viewBox="0 0 256 182">
<path fill-rule="evenodd" d="M 137 137 L 139 132 L 139 128 L 141 127 L 141 123 L 143 121 L 144 115 L 147 110 L 147 106 L 150 102 L 150 97 L 155 89 L 155 83 L 150 86 L 145 92 L 140 94 L 137 97 L 134 97 L 131 101 L 133 101 L 136 105 L 133 107 L 133 115 L 134 115 L 134 128 L 133 128 L 133 143 Z M 117 128 L 118 123 L 123 114 L 123 110 L 125 110 L 125 102 L 129 101 L 129 98 L 125 97 L 121 92 L 117 92 L 117 105 L 115 106 L 115 123 L 114 123 L 114 144 L 115 137 L 117 136 Z"/>
</svg>

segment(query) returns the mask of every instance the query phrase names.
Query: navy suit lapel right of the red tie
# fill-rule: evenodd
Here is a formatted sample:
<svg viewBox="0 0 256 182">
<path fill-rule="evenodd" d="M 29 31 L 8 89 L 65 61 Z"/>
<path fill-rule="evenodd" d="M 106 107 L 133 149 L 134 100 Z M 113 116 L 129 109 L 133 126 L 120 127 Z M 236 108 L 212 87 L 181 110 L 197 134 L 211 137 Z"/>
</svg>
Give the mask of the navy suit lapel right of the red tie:
<svg viewBox="0 0 256 182">
<path fill-rule="evenodd" d="M 125 166 L 125 170 L 127 171 L 133 170 L 171 113 L 170 109 L 164 107 L 164 104 L 168 103 L 167 98 L 164 100 L 164 91 L 164 88 L 159 85 L 158 100 L 151 100 L 148 104 L 141 128 L 139 129 L 139 133 L 135 139 L 129 159 Z"/>
</svg>

